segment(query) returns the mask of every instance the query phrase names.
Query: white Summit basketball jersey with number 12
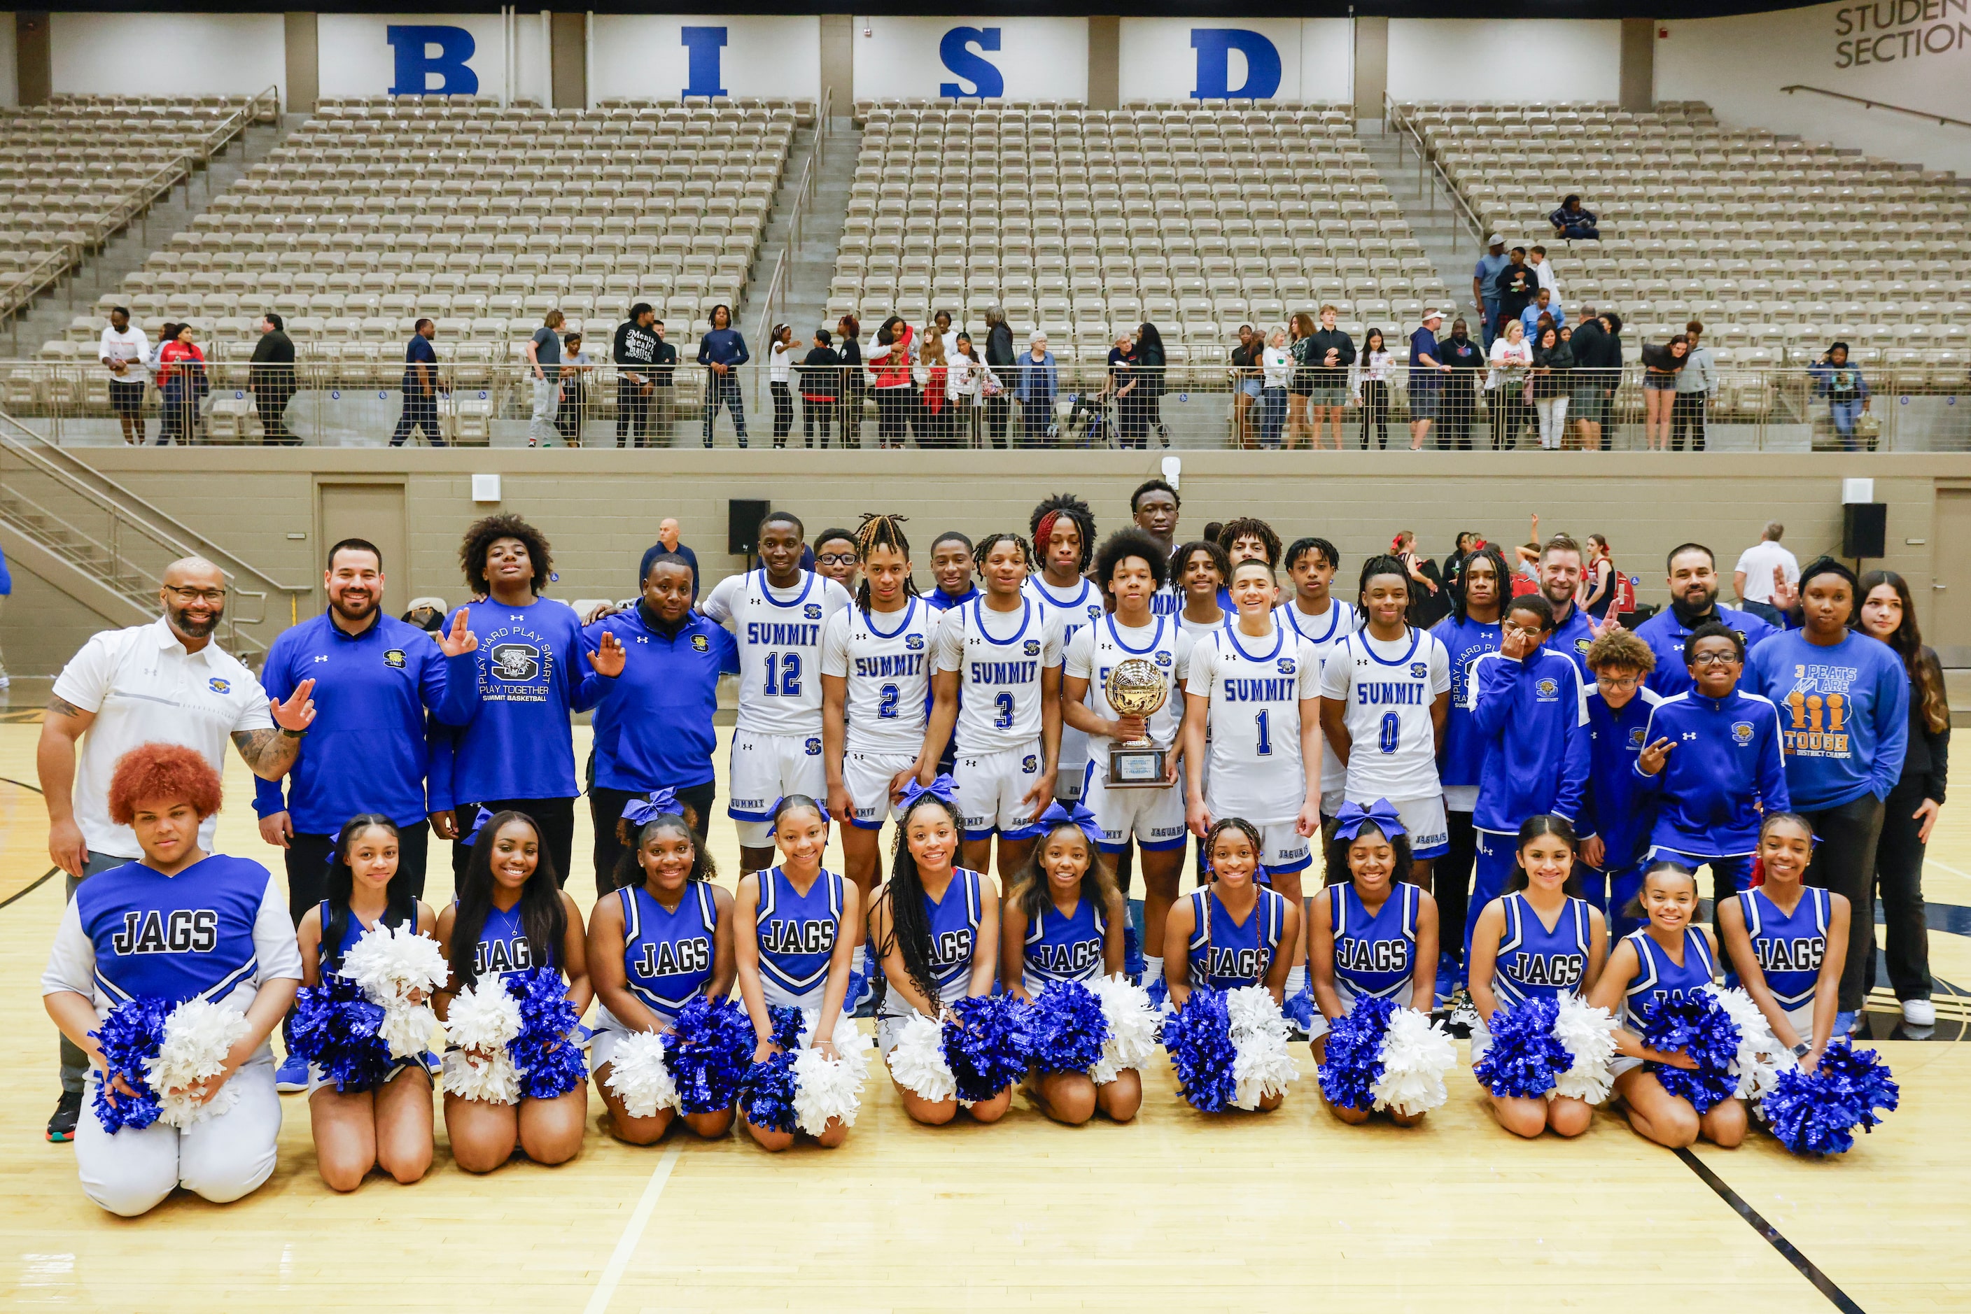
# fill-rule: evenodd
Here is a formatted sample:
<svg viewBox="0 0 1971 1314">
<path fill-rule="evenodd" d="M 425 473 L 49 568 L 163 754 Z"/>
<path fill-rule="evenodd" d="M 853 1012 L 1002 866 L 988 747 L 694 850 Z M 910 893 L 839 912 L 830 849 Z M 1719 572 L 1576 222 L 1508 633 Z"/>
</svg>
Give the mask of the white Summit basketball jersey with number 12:
<svg viewBox="0 0 1971 1314">
<path fill-rule="evenodd" d="M 765 569 L 714 585 L 700 611 L 739 640 L 741 731 L 822 733 L 822 632 L 848 607 L 848 589 L 810 571 L 792 589 L 769 587 Z"/>
</svg>

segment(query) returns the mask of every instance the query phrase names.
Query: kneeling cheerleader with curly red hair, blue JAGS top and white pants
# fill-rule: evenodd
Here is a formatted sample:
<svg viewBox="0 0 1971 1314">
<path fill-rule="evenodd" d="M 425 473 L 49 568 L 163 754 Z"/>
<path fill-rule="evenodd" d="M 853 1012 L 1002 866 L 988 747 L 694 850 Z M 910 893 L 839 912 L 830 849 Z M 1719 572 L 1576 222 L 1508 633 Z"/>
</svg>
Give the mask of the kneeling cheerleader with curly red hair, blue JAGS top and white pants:
<svg viewBox="0 0 1971 1314">
<path fill-rule="evenodd" d="M 274 1172 L 266 1038 L 294 1003 L 302 955 L 266 867 L 199 845 L 219 802 L 219 772 L 191 749 L 126 753 L 108 814 L 144 857 L 77 887 L 41 975 L 47 1015 L 91 1062 L 75 1133 L 83 1194 L 124 1217 L 177 1186 L 229 1204 Z"/>
</svg>

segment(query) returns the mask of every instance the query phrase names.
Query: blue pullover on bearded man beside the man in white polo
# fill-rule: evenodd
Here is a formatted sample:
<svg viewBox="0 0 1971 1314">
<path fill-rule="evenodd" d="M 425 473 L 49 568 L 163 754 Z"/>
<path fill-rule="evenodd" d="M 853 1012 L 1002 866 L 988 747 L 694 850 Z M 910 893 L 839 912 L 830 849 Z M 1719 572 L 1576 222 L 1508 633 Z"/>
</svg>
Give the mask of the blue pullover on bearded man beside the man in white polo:
<svg viewBox="0 0 1971 1314">
<path fill-rule="evenodd" d="M 288 770 L 288 798 L 278 780 L 256 778 L 254 812 L 286 810 L 302 835 L 333 835 L 359 812 L 420 825 L 430 812 L 424 713 L 469 719 L 473 664 L 475 654 L 447 660 L 430 634 L 384 615 L 361 634 L 327 613 L 282 632 L 260 684 L 286 699 L 313 680 L 317 715 Z"/>
</svg>

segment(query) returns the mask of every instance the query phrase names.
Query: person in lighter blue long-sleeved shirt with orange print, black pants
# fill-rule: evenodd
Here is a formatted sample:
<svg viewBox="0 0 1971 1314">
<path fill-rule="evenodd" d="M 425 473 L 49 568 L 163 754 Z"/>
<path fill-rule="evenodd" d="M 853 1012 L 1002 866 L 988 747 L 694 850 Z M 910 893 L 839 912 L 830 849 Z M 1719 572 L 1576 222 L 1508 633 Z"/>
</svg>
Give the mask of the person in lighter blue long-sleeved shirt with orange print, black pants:
<svg viewBox="0 0 1971 1314">
<path fill-rule="evenodd" d="M 1855 571 L 1831 558 L 1813 561 L 1800 571 L 1805 626 L 1760 646 L 1746 672 L 1746 684 L 1780 709 L 1786 788 L 1813 823 L 1807 881 L 1849 900 L 1837 1036 L 1869 993 L 1874 847 L 1910 739 L 1910 676 L 1894 648 L 1849 628 L 1859 597 Z"/>
</svg>

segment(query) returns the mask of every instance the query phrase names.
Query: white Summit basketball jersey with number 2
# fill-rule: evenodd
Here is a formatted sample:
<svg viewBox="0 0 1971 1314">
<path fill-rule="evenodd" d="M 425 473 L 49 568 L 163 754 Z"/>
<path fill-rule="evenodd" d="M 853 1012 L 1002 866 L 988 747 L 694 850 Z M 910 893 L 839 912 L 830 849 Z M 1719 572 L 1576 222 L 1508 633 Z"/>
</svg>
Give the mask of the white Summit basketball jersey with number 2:
<svg viewBox="0 0 1971 1314">
<path fill-rule="evenodd" d="M 930 719 L 930 662 L 938 613 L 913 597 L 903 611 L 850 605 L 828 621 L 822 674 L 840 676 L 851 753 L 917 753 Z"/>
</svg>

